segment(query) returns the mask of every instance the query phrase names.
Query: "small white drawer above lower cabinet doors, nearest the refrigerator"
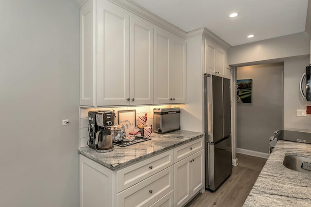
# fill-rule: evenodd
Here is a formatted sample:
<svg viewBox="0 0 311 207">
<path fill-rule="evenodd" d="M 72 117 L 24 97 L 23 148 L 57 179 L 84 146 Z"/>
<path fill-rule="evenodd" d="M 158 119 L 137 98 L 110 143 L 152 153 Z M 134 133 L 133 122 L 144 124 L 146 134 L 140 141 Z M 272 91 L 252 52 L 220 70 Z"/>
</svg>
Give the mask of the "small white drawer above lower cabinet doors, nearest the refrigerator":
<svg viewBox="0 0 311 207">
<path fill-rule="evenodd" d="M 204 148 L 204 137 L 174 148 L 174 163 Z"/>
</svg>

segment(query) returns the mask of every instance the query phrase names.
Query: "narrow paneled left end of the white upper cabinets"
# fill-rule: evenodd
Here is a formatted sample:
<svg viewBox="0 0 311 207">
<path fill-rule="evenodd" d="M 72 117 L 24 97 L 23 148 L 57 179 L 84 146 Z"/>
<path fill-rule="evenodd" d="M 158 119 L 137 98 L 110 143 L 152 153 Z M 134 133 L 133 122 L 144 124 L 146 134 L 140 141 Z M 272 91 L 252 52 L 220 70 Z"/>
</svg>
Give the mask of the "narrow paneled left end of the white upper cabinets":
<svg viewBox="0 0 311 207">
<path fill-rule="evenodd" d="M 87 1 L 80 10 L 80 105 L 95 104 L 93 1 Z"/>
</svg>

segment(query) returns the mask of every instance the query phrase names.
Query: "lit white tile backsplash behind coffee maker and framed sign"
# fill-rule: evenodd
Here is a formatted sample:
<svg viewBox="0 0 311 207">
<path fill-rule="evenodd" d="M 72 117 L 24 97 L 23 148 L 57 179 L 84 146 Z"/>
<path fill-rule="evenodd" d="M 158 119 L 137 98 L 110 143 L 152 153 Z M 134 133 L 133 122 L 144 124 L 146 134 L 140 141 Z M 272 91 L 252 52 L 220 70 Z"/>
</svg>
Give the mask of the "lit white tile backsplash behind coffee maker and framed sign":
<svg viewBox="0 0 311 207">
<path fill-rule="evenodd" d="M 138 116 L 144 116 L 147 113 L 147 123 L 146 125 L 153 125 L 153 109 L 154 108 L 170 108 L 179 107 L 182 108 L 183 105 L 150 105 L 150 106 L 133 106 L 133 107 L 112 107 L 112 108 L 82 108 L 80 107 L 80 147 L 87 146 L 88 141 L 88 111 L 98 111 L 98 110 L 115 110 L 116 118 L 115 125 L 118 124 L 118 111 L 124 110 L 136 110 L 136 123 L 138 124 Z"/>
</svg>

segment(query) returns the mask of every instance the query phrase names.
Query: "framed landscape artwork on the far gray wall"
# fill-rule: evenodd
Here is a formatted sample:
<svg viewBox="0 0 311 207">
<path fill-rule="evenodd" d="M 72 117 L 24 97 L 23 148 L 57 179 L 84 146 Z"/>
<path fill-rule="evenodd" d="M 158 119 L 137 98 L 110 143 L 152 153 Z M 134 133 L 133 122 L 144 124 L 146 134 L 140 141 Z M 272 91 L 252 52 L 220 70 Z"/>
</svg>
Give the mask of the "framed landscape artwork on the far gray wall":
<svg viewBox="0 0 311 207">
<path fill-rule="evenodd" d="M 237 80 L 237 103 L 252 103 L 252 79 Z"/>
</svg>

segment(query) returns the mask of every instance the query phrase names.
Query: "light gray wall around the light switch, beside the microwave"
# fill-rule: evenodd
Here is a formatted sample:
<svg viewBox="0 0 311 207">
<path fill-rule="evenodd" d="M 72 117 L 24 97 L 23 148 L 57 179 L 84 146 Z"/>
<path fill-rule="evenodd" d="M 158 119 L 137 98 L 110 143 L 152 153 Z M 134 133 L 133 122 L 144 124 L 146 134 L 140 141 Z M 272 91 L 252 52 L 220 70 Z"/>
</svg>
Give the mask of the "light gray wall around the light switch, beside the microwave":
<svg viewBox="0 0 311 207">
<path fill-rule="evenodd" d="M 284 128 L 311 131 L 311 115 L 296 116 L 297 109 L 306 110 L 310 102 L 303 100 L 299 91 L 299 82 L 306 71 L 308 58 L 284 61 Z"/>
</svg>

